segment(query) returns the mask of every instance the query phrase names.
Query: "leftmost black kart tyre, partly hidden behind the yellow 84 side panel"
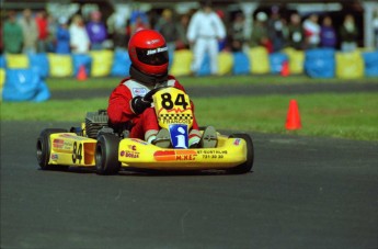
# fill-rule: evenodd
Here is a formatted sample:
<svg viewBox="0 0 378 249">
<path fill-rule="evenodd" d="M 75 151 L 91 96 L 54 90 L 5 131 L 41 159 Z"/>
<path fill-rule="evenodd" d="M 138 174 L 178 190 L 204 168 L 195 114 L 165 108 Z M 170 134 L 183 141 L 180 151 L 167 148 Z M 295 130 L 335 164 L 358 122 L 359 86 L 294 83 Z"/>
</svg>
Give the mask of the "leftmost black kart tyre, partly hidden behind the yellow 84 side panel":
<svg viewBox="0 0 378 249">
<path fill-rule="evenodd" d="M 51 150 L 51 144 L 50 144 L 50 135 L 56 133 L 67 133 L 67 129 L 64 128 L 46 128 L 41 132 L 39 137 L 37 139 L 36 144 L 36 155 L 37 155 L 37 161 L 43 170 L 66 170 L 68 169 L 68 166 L 51 166 L 48 165 L 48 161 L 50 159 L 50 150 Z"/>
</svg>

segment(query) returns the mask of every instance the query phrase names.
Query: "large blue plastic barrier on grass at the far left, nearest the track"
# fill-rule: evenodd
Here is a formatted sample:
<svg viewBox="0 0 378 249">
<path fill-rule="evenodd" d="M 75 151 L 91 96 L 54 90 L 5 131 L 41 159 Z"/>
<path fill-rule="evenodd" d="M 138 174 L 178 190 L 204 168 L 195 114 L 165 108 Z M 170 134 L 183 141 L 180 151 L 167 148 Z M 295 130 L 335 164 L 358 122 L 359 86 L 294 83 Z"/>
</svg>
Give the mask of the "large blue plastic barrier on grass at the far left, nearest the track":
<svg viewBox="0 0 378 249">
<path fill-rule="evenodd" d="M 3 101 L 42 102 L 50 98 L 50 92 L 36 69 L 8 69 L 2 90 Z"/>
</svg>

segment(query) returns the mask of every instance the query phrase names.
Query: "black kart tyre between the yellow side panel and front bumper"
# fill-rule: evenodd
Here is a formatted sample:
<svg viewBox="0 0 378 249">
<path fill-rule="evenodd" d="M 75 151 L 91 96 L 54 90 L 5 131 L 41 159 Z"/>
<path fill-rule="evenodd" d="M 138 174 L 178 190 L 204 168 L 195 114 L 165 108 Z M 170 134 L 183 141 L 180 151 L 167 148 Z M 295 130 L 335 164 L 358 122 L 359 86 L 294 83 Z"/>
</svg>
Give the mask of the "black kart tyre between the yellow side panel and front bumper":
<svg viewBox="0 0 378 249">
<path fill-rule="evenodd" d="M 119 137 L 102 134 L 95 147 L 95 169 L 98 174 L 116 174 L 121 169 L 118 161 Z"/>
</svg>

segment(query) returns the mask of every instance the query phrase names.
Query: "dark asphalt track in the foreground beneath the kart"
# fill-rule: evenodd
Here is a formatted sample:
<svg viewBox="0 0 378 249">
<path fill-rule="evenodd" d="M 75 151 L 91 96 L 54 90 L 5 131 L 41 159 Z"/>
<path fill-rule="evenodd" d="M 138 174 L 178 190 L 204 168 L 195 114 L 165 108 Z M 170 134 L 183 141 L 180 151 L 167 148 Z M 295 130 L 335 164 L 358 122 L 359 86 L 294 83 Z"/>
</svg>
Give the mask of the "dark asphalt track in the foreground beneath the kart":
<svg viewBox="0 0 378 249">
<path fill-rule="evenodd" d="M 242 176 L 39 170 L 41 129 L 71 125 L 1 122 L 2 249 L 378 248 L 377 142 L 252 133 Z"/>
</svg>

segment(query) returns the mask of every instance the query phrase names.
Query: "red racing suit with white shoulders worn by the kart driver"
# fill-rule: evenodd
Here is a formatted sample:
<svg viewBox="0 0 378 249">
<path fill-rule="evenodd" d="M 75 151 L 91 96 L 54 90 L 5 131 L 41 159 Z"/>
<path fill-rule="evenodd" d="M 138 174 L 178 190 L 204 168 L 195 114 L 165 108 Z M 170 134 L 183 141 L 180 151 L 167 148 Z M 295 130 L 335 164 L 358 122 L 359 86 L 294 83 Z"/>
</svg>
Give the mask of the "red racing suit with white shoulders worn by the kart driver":
<svg viewBox="0 0 378 249">
<path fill-rule="evenodd" d="M 184 87 L 173 77 L 168 77 L 167 86 L 177 88 L 185 92 Z M 128 124 L 130 127 L 129 136 L 131 138 L 140 138 L 147 140 L 150 135 L 159 132 L 158 118 L 153 107 L 147 107 L 141 114 L 134 113 L 130 102 L 134 97 L 146 95 L 152 90 L 131 78 L 126 78 L 113 90 L 107 106 L 107 115 L 113 125 Z M 193 136 L 201 137 L 198 124 L 194 116 L 194 104 L 191 102 L 193 110 L 193 126 L 190 132 L 190 138 Z"/>
</svg>

